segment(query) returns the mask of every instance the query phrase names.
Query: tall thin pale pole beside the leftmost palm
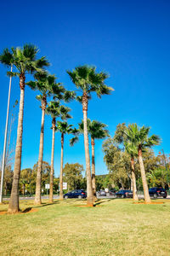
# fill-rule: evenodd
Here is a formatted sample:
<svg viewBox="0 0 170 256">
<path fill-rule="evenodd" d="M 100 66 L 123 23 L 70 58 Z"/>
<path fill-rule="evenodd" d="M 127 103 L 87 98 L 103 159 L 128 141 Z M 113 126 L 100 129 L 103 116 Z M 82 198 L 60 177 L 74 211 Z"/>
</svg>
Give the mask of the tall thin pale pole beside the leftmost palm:
<svg viewBox="0 0 170 256">
<path fill-rule="evenodd" d="M 13 71 L 13 66 L 11 65 L 11 72 L 12 71 Z M 11 80 L 12 80 L 12 77 L 10 76 L 9 86 L 8 86 L 7 118 L 6 118 L 5 136 L 4 136 L 4 144 L 3 144 L 3 165 L 2 165 L 2 174 L 1 174 L 0 203 L 3 202 L 3 177 L 4 177 L 4 170 L 5 170 L 5 154 L 6 154 L 6 146 L 7 146 L 8 110 L 9 110 L 9 103 L 10 103 Z"/>
</svg>

